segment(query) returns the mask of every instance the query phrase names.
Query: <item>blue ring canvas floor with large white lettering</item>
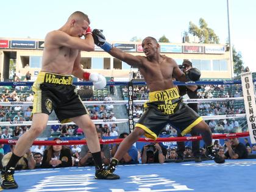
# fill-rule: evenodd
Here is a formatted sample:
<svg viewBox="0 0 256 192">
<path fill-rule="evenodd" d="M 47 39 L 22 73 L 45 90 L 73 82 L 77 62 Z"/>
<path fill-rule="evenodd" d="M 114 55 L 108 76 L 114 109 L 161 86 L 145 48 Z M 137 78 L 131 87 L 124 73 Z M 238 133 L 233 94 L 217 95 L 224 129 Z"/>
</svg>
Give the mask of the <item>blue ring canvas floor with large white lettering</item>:
<svg viewBox="0 0 256 192">
<path fill-rule="evenodd" d="M 255 192 L 255 170 L 254 159 L 227 160 L 221 165 L 213 161 L 120 165 L 115 171 L 119 180 L 95 180 L 94 167 L 89 166 L 34 169 L 16 171 L 19 188 L 9 191 Z"/>
</svg>

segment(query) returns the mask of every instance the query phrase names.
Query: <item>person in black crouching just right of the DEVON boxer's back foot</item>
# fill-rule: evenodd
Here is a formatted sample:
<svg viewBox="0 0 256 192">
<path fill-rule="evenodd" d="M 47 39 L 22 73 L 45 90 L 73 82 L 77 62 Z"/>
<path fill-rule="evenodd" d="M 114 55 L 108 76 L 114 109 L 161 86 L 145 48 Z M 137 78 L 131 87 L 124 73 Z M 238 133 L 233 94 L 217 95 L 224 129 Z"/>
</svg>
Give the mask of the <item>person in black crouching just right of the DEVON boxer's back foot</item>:
<svg viewBox="0 0 256 192">
<path fill-rule="evenodd" d="M 231 159 L 248 157 L 246 146 L 244 146 L 243 143 L 240 143 L 238 138 L 225 140 L 225 144 L 227 146 L 227 151 L 222 157 Z"/>
</svg>

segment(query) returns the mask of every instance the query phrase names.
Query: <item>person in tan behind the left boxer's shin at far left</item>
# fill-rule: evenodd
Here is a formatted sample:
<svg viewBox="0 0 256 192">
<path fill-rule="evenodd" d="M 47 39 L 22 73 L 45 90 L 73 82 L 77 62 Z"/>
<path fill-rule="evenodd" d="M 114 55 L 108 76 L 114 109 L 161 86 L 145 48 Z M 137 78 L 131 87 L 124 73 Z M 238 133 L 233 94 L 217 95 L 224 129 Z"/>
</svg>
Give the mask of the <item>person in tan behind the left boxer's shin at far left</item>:
<svg viewBox="0 0 256 192">
<path fill-rule="evenodd" d="M 2 157 L 2 166 L 6 166 L 7 163 L 10 160 L 10 157 L 12 156 L 13 150 L 15 148 L 15 145 L 10 145 L 11 152 L 7 153 Z M 35 168 L 35 161 L 33 158 L 33 155 L 29 150 L 26 151 L 26 153 L 23 155 L 23 157 L 18 161 L 16 164 L 15 170 L 20 169 L 34 169 Z"/>
</svg>

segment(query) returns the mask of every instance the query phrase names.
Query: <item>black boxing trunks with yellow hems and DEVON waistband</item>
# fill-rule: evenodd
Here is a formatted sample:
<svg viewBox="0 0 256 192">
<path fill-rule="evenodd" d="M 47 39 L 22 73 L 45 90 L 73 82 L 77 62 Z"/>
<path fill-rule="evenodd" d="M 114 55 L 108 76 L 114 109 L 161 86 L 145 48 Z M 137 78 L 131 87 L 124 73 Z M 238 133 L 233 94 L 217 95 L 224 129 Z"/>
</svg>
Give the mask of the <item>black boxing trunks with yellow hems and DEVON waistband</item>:
<svg viewBox="0 0 256 192">
<path fill-rule="evenodd" d="M 149 93 L 149 102 L 135 127 L 140 127 L 145 136 L 157 139 L 157 136 L 170 124 L 181 135 L 185 135 L 203 119 L 182 102 L 176 87 Z"/>
</svg>

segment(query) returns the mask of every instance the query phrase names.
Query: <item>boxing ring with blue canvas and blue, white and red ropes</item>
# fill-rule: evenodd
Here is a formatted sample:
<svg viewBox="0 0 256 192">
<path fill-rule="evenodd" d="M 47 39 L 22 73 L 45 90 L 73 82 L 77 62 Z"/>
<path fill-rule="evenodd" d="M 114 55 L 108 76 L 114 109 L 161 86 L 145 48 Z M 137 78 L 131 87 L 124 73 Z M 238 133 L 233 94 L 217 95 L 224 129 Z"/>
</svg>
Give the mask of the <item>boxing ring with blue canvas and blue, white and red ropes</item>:
<svg viewBox="0 0 256 192">
<path fill-rule="evenodd" d="M 255 82 L 254 80 L 253 82 Z M 1 82 L 0 86 L 32 86 L 33 82 Z M 180 83 L 176 85 L 194 85 L 195 83 Z M 241 84 L 241 80 L 230 81 L 201 81 L 197 85 L 233 85 Z M 74 82 L 74 85 L 92 85 L 91 82 Z M 127 82 L 108 82 L 107 85 L 127 85 Z M 133 85 L 146 85 L 145 82 L 133 82 Z M 255 96 L 254 96 L 255 98 Z M 243 101 L 240 98 L 215 98 L 215 99 L 185 99 L 184 102 L 218 102 L 218 101 Z M 130 101 L 85 101 L 85 105 L 119 105 L 129 104 Z M 143 104 L 144 100 L 132 101 L 133 104 Z M 1 106 L 32 105 L 32 102 L 0 102 Z M 245 118 L 244 114 L 202 116 L 204 120 Z M 138 119 L 132 119 L 134 122 Z M 126 123 L 129 119 L 93 120 L 99 123 Z M 25 126 L 31 121 L 5 121 L 0 126 Z M 48 121 L 48 125 L 60 124 L 59 121 Z M 73 124 L 73 123 L 67 123 Z M 215 139 L 247 137 L 249 132 L 214 134 Z M 197 137 L 171 137 L 157 138 L 157 141 L 193 141 L 201 140 Z M 106 139 L 100 143 L 120 143 L 123 139 Z M 149 138 L 140 138 L 140 142 L 151 142 Z M 15 144 L 16 140 L 0 140 L 0 144 Z M 86 144 L 85 140 L 63 141 L 34 141 L 33 145 L 71 145 Z M 19 188 L 13 191 L 255 191 L 256 160 L 226 160 L 224 164 L 213 161 L 202 163 L 163 163 L 163 164 L 138 164 L 119 165 L 116 174 L 119 180 L 95 180 L 94 167 L 70 167 L 54 169 L 33 169 L 15 171 L 15 180 Z M 1 191 L 1 189 L 0 189 Z"/>
</svg>

